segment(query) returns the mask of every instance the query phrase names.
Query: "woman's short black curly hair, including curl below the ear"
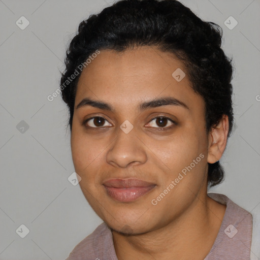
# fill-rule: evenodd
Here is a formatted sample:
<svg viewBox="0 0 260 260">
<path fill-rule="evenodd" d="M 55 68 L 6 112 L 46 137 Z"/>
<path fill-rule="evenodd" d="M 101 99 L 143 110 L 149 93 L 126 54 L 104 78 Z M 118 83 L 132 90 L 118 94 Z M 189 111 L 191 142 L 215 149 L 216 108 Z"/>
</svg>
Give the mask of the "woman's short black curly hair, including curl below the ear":
<svg viewBox="0 0 260 260">
<path fill-rule="evenodd" d="M 92 14 L 79 24 L 65 59 L 60 89 L 68 105 L 72 130 L 75 95 L 80 72 L 70 80 L 80 64 L 96 50 L 122 52 L 136 46 L 155 46 L 182 60 L 192 89 L 205 102 L 206 131 L 216 126 L 223 115 L 233 126 L 231 84 L 232 59 L 221 49 L 222 28 L 214 22 L 202 21 L 189 8 L 175 0 L 121 0 Z M 219 161 L 208 164 L 208 186 L 224 179 Z"/>
</svg>

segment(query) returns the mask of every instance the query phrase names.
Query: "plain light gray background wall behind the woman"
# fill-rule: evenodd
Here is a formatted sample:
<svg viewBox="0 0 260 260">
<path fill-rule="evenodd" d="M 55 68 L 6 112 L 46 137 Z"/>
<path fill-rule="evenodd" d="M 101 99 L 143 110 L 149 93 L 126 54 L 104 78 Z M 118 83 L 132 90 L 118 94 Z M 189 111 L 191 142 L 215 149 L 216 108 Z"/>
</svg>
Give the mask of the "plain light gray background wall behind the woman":
<svg viewBox="0 0 260 260">
<path fill-rule="evenodd" d="M 223 49 L 234 57 L 234 128 L 221 163 L 225 181 L 211 189 L 254 215 L 260 212 L 260 1 L 182 0 L 202 19 L 223 28 Z M 0 259 L 65 259 L 102 221 L 92 211 L 74 172 L 68 111 L 59 85 L 66 46 L 80 21 L 108 0 L 0 0 Z M 21 30 L 16 21 L 30 24 Z M 224 21 L 233 16 L 230 30 Z M 260 100 L 260 96 L 258 96 Z M 24 120 L 29 128 L 20 133 Z M 259 214 L 259 213 L 258 213 Z M 258 215 L 259 218 L 259 215 Z M 21 238 L 24 224 L 29 234 Z M 257 255 L 259 259 L 260 256 Z"/>
</svg>

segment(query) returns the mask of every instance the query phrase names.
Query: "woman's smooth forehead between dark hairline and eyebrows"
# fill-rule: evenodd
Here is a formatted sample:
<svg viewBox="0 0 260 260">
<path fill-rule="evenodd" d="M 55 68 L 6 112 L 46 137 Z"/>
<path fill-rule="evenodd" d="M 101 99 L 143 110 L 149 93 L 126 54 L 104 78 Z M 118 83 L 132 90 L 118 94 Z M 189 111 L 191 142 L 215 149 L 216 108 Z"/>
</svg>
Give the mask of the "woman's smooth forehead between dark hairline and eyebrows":
<svg viewBox="0 0 260 260">
<path fill-rule="evenodd" d="M 82 71 L 75 106 L 86 96 L 121 108 L 159 96 L 172 96 L 183 103 L 201 102 L 182 61 L 147 46 L 124 52 L 102 50 Z"/>
</svg>

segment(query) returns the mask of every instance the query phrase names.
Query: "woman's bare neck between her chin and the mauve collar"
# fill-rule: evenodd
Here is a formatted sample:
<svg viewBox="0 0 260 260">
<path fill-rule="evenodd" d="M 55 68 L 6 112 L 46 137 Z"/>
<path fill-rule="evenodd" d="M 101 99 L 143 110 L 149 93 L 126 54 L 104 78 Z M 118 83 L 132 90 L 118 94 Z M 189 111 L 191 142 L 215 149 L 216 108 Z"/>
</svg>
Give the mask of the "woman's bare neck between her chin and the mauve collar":
<svg viewBox="0 0 260 260">
<path fill-rule="evenodd" d="M 225 206 L 209 198 L 205 192 L 163 228 L 133 236 L 112 231 L 117 258 L 204 259 L 217 237 L 224 212 Z"/>
</svg>

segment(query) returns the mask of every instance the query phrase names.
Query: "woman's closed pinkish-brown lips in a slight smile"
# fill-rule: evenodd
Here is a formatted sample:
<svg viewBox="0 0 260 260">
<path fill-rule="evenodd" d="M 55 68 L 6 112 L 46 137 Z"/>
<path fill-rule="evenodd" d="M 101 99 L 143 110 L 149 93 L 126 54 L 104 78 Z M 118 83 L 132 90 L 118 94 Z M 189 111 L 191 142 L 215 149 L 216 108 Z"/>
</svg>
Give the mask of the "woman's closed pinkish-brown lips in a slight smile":
<svg viewBox="0 0 260 260">
<path fill-rule="evenodd" d="M 118 202 L 132 202 L 152 190 L 156 184 L 136 178 L 110 179 L 103 183 L 107 194 Z"/>
</svg>

